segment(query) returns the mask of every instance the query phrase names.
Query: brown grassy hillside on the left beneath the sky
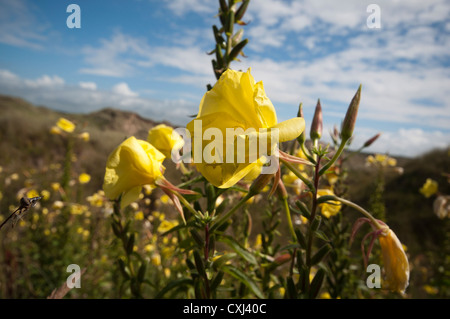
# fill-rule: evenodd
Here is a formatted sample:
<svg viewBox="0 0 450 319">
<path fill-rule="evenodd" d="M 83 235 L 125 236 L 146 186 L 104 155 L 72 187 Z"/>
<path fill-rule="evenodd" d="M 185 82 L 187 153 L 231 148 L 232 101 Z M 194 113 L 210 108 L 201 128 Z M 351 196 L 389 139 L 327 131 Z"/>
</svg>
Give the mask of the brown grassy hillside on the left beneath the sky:
<svg viewBox="0 0 450 319">
<path fill-rule="evenodd" d="M 18 181 L 16 187 L 5 189 L 4 198 L 15 198 L 17 187 L 23 187 L 23 180 L 30 175 L 31 169 L 43 174 L 44 184 L 37 185 L 39 189 L 48 188 L 49 183 L 59 181 L 60 176 L 50 171 L 49 165 L 64 161 L 65 139 L 50 134 L 50 128 L 60 117 L 73 121 L 77 125 L 77 132 L 90 134 L 89 142 L 76 141 L 74 147 L 77 160 L 73 163 L 74 174 L 87 172 L 92 176 L 87 191 L 101 188 L 106 160 L 117 145 L 132 135 L 145 140 L 148 130 L 161 123 L 112 108 L 89 114 L 66 114 L 34 106 L 20 98 L 0 95 L 0 166 L 5 176 L 21 173 L 22 182 Z"/>
</svg>

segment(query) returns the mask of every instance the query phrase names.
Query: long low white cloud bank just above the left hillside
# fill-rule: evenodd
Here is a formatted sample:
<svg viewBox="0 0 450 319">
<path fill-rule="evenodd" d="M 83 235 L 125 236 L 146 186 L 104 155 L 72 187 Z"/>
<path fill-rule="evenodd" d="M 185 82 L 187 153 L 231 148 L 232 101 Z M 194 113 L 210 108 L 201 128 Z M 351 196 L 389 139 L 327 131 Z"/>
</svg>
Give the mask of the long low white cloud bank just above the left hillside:
<svg viewBox="0 0 450 319">
<path fill-rule="evenodd" d="M 95 83 L 84 87 L 80 83 L 72 86 L 56 75 L 30 80 L 0 69 L 0 94 L 20 96 L 31 103 L 59 111 L 88 113 L 114 107 L 181 126 L 190 121 L 189 115 L 197 112 L 198 105 L 179 98 L 155 100 L 139 97 L 124 82 L 111 90 L 93 90 L 92 84 Z"/>
</svg>

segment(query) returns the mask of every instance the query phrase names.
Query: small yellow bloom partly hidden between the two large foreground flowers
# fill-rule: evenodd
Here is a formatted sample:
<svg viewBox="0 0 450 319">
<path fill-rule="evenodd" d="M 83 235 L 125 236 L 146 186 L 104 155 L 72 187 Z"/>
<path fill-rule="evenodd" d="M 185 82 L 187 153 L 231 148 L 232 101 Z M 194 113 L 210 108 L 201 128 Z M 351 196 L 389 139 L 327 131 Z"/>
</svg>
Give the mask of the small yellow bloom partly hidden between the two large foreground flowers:
<svg viewBox="0 0 450 319">
<path fill-rule="evenodd" d="M 147 141 L 167 158 L 171 158 L 172 148 L 179 150 L 184 145 L 183 138 L 165 124 L 157 125 L 148 131 Z"/>
</svg>

